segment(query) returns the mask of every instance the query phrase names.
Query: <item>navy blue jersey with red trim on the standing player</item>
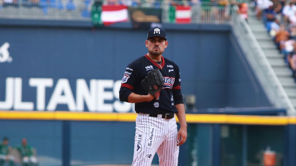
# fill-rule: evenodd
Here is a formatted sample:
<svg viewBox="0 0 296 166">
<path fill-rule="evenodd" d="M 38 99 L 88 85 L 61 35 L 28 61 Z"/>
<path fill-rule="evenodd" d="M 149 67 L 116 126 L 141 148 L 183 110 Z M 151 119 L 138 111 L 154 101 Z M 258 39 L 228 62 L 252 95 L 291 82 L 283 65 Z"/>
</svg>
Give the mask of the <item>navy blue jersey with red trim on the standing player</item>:
<svg viewBox="0 0 296 166">
<path fill-rule="evenodd" d="M 162 57 L 161 64 L 158 64 L 151 60 L 148 55 L 136 59 L 125 69 L 119 91 L 120 100 L 128 102 L 127 98 L 132 92 L 139 95 L 147 95 L 142 88 L 141 81 L 145 79 L 150 70 L 157 68 L 162 73 L 164 80 L 160 96 L 158 99 L 150 102 L 136 103 L 135 111 L 137 113 L 161 114 L 178 112 L 175 105 L 183 103 L 178 65 L 164 57 Z"/>
</svg>

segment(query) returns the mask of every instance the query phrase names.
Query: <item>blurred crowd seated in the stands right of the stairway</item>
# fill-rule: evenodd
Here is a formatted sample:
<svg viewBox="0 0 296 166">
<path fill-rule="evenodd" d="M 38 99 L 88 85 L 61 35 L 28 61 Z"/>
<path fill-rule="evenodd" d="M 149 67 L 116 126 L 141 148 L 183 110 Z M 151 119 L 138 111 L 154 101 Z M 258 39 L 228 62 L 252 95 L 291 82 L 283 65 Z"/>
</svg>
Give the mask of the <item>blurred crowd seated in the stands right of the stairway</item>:
<svg viewBox="0 0 296 166">
<path fill-rule="evenodd" d="M 296 1 L 253 1 L 257 19 L 262 20 L 286 64 L 296 77 Z"/>
</svg>

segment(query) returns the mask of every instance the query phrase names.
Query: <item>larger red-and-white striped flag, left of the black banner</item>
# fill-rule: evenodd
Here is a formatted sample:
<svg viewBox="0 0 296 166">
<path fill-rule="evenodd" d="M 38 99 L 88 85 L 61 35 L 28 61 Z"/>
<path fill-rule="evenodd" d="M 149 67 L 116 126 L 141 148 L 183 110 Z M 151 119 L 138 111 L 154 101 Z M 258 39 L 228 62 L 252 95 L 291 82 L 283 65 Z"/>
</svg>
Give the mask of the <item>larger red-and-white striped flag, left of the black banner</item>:
<svg viewBox="0 0 296 166">
<path fill-rule="evenodd" d="M 128 20 L 127 6 L 124 5 L 103 5 L 101 21 L 105 26 L 116 22 L 126 22 Z"/>
</svg>

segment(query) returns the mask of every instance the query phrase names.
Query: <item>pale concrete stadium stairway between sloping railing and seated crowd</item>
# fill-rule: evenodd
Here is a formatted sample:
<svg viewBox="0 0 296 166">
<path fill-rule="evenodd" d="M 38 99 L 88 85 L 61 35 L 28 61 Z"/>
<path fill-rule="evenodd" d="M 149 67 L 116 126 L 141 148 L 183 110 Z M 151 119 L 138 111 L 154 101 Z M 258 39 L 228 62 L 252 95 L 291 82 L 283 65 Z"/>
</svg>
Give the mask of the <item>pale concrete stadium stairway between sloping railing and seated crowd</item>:
<svg viewBox="0 0 296 166">
<path fill-rule="evenodd" d="M 288 97 L 290 98 L 290 101 L 292 102 L 294 108 L 296 108 L 296 83 L 295 79 L 292 77 L 292 71 L 285 63 L 285 60 L 282 54 L 279 53 L 276 45 L 273 43 L 273 40 L 265 29 L 263 22 L 261 20 L 257 20 L 252 7 L 249 7 L 248 24 L 261 46 L 261 49 L 265 53 L 270 65 L 272 66 L 273 71 L 277 75 Z"/>
</svg>

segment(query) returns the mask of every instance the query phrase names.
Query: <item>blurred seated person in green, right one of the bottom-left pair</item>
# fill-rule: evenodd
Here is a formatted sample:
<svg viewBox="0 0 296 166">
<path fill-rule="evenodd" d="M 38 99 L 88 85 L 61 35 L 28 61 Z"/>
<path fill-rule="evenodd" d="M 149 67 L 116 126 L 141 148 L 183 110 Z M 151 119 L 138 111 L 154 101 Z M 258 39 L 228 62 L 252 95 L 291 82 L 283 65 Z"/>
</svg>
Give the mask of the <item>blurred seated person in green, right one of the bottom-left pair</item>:
<svg viewBox="0 0 296 166">
<path fill-rule="evenodd" d="M 37 165 L 37 158 L 34 156 L 33 148 L 27 144 L 27 139 L 22 139 L 22 144 L 17 147 L 22 156 L 23 166 Z"/>
</svg>

